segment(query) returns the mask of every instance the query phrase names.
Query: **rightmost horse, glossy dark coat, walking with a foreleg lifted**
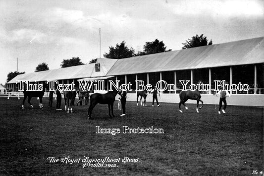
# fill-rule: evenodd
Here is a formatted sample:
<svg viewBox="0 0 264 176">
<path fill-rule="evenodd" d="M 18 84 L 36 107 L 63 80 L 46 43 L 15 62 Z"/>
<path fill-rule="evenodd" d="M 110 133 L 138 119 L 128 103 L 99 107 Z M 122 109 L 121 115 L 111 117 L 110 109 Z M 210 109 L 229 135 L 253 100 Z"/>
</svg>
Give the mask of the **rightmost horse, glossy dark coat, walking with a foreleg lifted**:
<svg viewBox="0 0 264 176">
<path fill-rule="evenodd" d="M 202 106 L 200 106 L 199 109 L 201 109 L 203 107 L 203 104 L 204 104 L 204 102 L 201 100 L 200 91 L 198 91 L 198 90 L 194 90 L 194 91 L 186 90 L 186 91 L 181 91 L 179 95 L 180 95 L 179 109 L 180 109 L 181 113 L 182 113 L 181 104 L 183 104 L 185 106 L 185 109 L 188 110 L 188 107 L 184 104 L 188 99 L 197 100 L 196 111 L 197 111 L 197 113 L 199 113 L 199 111 L 198 111 L 199 101 L 202 102 Z"/>
</svg>

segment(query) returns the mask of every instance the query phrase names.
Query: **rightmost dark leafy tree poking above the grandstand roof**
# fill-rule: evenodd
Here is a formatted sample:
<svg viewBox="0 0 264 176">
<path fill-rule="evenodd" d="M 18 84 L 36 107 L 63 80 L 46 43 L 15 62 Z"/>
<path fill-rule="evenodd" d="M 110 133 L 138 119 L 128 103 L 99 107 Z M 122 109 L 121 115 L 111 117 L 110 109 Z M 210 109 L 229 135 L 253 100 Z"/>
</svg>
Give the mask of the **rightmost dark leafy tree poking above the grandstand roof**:
<svg viewBox="0 0 264 176">
<path fill-rule="evenodd" d="M 188 39 L 186 43 L 182 43 L 183 47 L 182 49 L 191 48 L 191 47 L 198 47 L 198 46 L 206 46 L 212 44 L 212 40 L 208 43 L 208 40 L 206 37 L 204 37 L 204 34 L 201 36 L 193 36 L 192 39 Z"/>
</svg>

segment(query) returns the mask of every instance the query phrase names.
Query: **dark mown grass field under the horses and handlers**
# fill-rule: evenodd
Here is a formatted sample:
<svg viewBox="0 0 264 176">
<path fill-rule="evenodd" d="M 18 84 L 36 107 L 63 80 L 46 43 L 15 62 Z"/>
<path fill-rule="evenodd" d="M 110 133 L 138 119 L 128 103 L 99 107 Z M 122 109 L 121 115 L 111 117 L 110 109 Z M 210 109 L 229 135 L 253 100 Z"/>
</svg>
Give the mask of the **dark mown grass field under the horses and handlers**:
<svg viewBox="0 0 264 176">
<path fill-rule="evenodd" d="M 160 107 L 127 102 L 127 116 L 108 118 L 107 105 L 97 105 L 94 120 L 88 107 L 73 106 L 73 113 L 44 109 L 33 98 L 34 109 L 17 98 L 0 98 L 0 175 L 172 175 L 237 176 L 264 171 L 264 109 L 228 106 L 218 115 L 214 105 L 196 113 L 194 104 L 178 112 L 176 103 Z M 64 104 L 64 103 L 62 103 Z M 150 103 L 148 103 L 150 105 Z M 53 101 L 55 106 L 55 101 Z M 162 128 L 164 134 L 97 134 L 101 128 Z M 79 159 L 63 163 L 61 158 Z M 116 167 L 83 167 L 82 159 L 121 158 Z M 48 157 L 59 159 L 50 163 Z M 124 164 L 124 157 L 139 158 Z M 113 166 L 113 165 L 112 165 Z"/>
</svg>

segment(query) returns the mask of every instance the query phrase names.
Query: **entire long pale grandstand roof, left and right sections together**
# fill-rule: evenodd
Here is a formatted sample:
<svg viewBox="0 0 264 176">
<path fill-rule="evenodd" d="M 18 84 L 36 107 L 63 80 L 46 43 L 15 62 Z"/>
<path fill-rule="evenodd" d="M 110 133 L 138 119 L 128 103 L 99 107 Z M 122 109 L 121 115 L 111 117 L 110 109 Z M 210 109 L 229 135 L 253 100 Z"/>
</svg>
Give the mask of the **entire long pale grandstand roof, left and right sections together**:
<svg viewBox="0 0 264 176">
<path fill-rule="evenodd" d="M 95 71 L 95 63 L 85 64 L 17 75 L 8 84 L 264 63 L 264 37 L 125 59 L 98 58 L 96 63 L 100 72 Z"/>
</svg>

